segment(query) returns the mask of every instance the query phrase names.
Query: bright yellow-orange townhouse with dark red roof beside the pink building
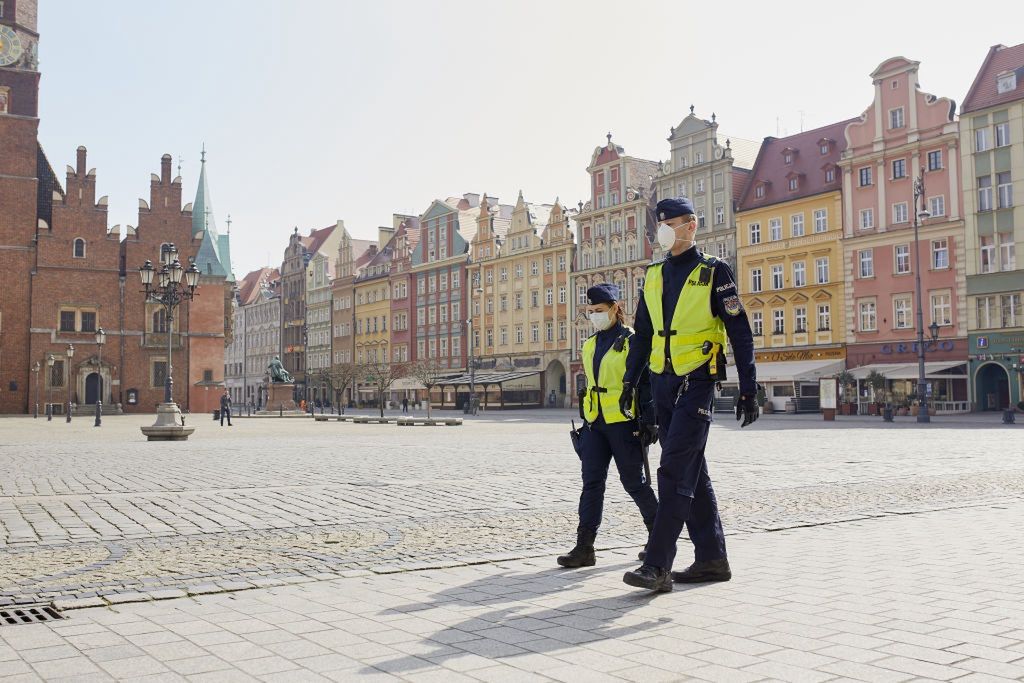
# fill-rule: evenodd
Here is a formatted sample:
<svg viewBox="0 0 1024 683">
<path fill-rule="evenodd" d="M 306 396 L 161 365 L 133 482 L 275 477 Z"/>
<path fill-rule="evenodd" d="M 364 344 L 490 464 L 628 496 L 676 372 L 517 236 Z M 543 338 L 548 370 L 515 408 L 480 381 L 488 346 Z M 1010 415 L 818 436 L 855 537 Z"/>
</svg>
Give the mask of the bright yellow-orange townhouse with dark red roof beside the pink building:
<svg viewBox="0 0 1024 683">
<path fill-rule="evenodd" d="M 849 121 L 765 138 L 736 219 L 736 282 L 771 409 L 817 410 L 818 380 L 843 370 L 842 173 Z M 736 380 L 730 377 L 730 384 Z"/>
</svg>

